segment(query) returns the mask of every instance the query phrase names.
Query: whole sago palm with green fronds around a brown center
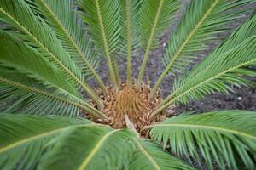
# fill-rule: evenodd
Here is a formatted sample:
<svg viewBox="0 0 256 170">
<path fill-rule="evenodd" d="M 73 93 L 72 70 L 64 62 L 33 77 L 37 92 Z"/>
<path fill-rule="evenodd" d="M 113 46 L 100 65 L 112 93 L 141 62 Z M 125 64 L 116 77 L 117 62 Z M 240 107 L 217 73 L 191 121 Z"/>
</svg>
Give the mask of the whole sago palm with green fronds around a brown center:
<svg viewBox="0 0 256 170">
<path fill-rule="evenodd" d="M 0 0 L 0 169 L 255 169 L 255 112 L 166 118 L 168 107 L 253 85 L 246 77 L 255 76 L 255 13 L 186 71 L 253 2 L 190 0 L 151 89 L 143 82 L 148 56 L 180 0 Z M 133 81 L 138 50 L 143 63 Z M 97 73 L 101 57 L 109 85 Z M 125 82 L 117 57 L 127 59 Z M 170 74 L 172 92 L 161 99 Z"/>
</svg>

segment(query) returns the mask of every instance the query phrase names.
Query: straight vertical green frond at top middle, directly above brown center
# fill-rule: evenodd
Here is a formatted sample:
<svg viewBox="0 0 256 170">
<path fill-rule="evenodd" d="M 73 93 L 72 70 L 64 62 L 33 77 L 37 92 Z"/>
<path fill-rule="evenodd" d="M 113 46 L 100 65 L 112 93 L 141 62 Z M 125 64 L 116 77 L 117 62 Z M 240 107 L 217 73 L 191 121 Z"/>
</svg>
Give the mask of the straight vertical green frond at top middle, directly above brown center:
<svg viewBox="0 0 256 170">
<path fill-rule="evenodd" d="M 131 57 L 139 45 L 140 0 L 121 0 L 121 41 L 119 54 L 127 56 L 127 83 L 131 85 Z"/>
</svg>

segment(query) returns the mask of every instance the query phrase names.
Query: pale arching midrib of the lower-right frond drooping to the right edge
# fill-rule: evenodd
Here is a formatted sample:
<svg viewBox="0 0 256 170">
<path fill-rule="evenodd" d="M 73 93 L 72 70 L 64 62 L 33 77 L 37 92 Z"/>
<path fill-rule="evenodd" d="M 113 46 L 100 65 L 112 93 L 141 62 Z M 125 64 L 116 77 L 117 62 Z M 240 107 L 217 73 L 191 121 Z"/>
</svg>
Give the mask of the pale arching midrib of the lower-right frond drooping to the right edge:
<svg viewBox="0 0 256 170">
<path fill-rule="evenodd" d="M 154 128 L 154 127 L 185 127 L 185 128 L 199 128 L 199 129 L 206 129 L 206 130 L 214 130 L 214 131 L 221 131 L 224 133 L 233 133 L 239 136 L 244 136 L 250 139 L 256 140 L 256 136 L 253 136 L 250 133 L 244 133 L 240 132 L 235 129 L 229 129 L 226 127 L 214 127 L 214 126 L 208 126 L 208 125 L 198 125 L 198 124 L 189 124 L 189 123 L 162 123 L 162 124 L 155 124 L 152 126 L 149 126 L 147 128 Z"/>
</svg>

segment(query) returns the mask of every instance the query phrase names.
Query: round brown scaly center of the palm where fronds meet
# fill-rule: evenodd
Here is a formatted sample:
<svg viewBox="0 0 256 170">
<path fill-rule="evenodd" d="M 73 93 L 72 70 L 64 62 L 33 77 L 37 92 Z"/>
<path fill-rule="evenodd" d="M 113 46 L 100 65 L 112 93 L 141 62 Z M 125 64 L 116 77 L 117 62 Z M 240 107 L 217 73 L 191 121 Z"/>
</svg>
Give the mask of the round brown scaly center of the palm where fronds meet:
<svg viewBox="0 0 256 170">
<path fill-rule="evenodd" d="M 150 119 L 150 114 L 155 111 L 161 99 L 158 94 L 153 99 L 149 99 L 148 85 L 143 85 L 137 90 L 135 84 L 129 87 L 122 83 L 118 91 L 108 88 L 108 92 L 108 96 L 101 95 L 105 105 L 101 111 L 108 117 L 108 121 L 94 120 L 95 122 L 109 124 L 113 128 L 133 126 L 138 133 L 142 133 L 143 127 L 166 118 L 166 113 L 163 112 L 160 116 Z"/>
</svg>

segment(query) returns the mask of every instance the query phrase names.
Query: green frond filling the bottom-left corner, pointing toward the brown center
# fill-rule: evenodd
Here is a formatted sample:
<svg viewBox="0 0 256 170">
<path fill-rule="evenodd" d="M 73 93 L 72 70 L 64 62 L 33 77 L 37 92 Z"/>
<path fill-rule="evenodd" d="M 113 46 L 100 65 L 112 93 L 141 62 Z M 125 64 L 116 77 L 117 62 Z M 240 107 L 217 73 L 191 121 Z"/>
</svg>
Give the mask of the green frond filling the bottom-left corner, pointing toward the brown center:
<svg viewBox="0 0 256 170">
<path fill-rule="evenodd" d="M 35 169 L 50 141 L 72 127 L 92 126 L 62 116 L 0 116 L 0 168 Z"/>
</svg>

